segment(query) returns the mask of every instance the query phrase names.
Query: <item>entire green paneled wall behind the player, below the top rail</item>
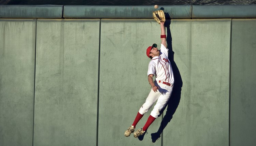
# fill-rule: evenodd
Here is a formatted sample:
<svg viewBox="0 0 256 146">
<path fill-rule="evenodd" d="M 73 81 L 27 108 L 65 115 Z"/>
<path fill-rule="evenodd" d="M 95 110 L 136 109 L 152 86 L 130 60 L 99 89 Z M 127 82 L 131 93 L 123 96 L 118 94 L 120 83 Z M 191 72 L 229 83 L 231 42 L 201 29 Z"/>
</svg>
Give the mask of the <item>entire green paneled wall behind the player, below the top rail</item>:
<svg viewBox="0 0 256 146">
<path fill-rule="evenodd" d="M 0 145 L 253 145 L 256 20 L 166 24 L 173 93 L 134 138 L 154 20 L 0 19 Z"/>
</svg>

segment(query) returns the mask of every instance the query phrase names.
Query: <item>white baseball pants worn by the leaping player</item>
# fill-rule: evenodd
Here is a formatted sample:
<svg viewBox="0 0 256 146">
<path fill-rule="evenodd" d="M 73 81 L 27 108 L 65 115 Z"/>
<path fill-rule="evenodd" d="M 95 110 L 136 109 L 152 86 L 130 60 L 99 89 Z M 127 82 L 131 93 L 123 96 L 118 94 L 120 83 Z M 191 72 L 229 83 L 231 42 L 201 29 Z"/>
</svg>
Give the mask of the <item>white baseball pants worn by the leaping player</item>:
<svg viewBox="0 0 256 146">
<path fill-rule="evenodd" d="M 162 110 L 162 108 L 166 105 L 166 103 L 170 99 L 173 86 L 171 87 L 171 86 L 168 86 L 162 83 L 157 83 L 157 82 L 155 82 L 155 85 L 158 86 L 157 92 L 154 92 L 153 89 L 151 89 L 145 103 L 141 106 L 139 113 L 142 115 L 147 113 L 147 111 L 152 107 L 154 102 L 157 100 L 156 105 L 154 106 L 154 109 L 150 113 L 152 117 L 157 118 L 160 115 L 160 111 Z"/>
</svg>

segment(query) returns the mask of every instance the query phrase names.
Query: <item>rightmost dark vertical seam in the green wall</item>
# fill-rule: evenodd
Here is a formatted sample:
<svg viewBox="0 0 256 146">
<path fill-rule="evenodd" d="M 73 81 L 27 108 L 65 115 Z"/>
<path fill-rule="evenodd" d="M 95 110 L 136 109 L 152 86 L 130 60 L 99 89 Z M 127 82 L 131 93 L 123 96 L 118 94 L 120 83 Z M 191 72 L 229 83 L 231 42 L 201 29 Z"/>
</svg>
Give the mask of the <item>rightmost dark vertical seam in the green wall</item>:
<svg viewBox="0 0 256 146">
<path fill-rule="evenodd" d="M 230 45 L 229 45 L 229 117 L 228 117 L 228 145 L 230 146 L 230 90 L 231 90 L 231 46 L 232 46 L 232 19 L 230 21 Z"/>
</svg>

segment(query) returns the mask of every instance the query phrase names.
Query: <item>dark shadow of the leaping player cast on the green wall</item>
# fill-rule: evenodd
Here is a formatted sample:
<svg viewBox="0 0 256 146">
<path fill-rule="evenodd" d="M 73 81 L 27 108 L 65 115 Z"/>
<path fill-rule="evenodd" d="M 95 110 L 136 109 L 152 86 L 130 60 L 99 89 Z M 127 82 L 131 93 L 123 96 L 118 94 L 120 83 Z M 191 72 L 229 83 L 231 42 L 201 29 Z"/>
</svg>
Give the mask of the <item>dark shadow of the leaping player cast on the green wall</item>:
<svg viewBox="0 0 256 146">
<path fill-rule="evenodd" d="M 164 117 L 161 121 L 161 125 L 158 128 L 158 131 L 156 133 L 151 134 L 153 143 L 156 142 L 160 138 L 160 135 L 161 135 L 163 129 L 165 129 L 167 124 L 171 121 L 172 116 L 175 113 L 175 111 L 180 103 L 181 88 L 182 88 L 182 84 L 183 84 L 180 71 L 179 71 L 176 63 L 174 62 L 174 52 L 172 50 L 172 36 L 171 36 L 171 30 L 170 30 L 170 25 L 171 25 L 170 18 L 171 17 L 169 15 L 169 13 L 165 13 L 165 14 L 166 14 L 165 26 L 167 28 L 166 41 L 167 41 L 167 48 L 169 49 L 168 57 L 171 62 L 171 65 L 172 65 L 173 76 L 174 76 L 174 86 L 173 86 L 172 94 L 171 94 L 171 97 L 170 97 L 168 103 L 162 109 L 162 111 L 160 113 L 160 115 L 161 115 L 163 113 L 163 111 L 166 109 L 166 114 L 164 115 Z M 177 49 L 179 49 L 179 48 L 177 48 Z"/>
</svg>

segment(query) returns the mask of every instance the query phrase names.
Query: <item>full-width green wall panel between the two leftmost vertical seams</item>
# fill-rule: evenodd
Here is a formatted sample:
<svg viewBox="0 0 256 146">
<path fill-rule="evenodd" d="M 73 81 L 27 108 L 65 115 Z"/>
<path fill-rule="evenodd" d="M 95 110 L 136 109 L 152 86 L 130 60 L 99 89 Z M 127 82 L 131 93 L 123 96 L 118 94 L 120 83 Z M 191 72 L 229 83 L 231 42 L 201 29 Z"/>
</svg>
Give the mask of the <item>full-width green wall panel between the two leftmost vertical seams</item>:
<svg viewBox="0 0 256 146">
<path fill-rule="evenodd" d="M 37 20 L 34 145 L 96 145 L 99 24 Z"/>
</svg>

